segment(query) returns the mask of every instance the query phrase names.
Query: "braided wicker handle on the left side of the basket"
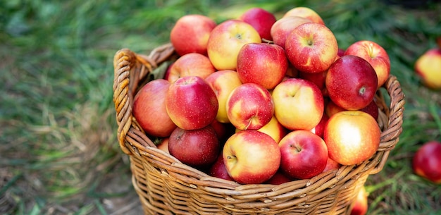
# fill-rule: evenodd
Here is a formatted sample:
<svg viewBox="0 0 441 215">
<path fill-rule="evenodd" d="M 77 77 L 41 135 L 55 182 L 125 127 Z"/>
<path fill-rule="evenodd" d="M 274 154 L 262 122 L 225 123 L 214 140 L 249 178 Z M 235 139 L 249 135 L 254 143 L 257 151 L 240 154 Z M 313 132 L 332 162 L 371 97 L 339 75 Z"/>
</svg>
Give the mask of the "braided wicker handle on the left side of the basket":
<svg viewBox="0 0 441 215">
<path fill-rule="evenodd" d="M 125 154 L 132 154 L 127 145 L 130 140 L 129 130 L 141 130 L 132 120 L 132 102 L 138 84 L 173 52 L 173 46 L 165 44 L 151 51 L 149 56 L 135 54 L 130 49 L 120 49 L 113 57 L 113 103 L 118 124 L 118 142 Z"/>
</svg>

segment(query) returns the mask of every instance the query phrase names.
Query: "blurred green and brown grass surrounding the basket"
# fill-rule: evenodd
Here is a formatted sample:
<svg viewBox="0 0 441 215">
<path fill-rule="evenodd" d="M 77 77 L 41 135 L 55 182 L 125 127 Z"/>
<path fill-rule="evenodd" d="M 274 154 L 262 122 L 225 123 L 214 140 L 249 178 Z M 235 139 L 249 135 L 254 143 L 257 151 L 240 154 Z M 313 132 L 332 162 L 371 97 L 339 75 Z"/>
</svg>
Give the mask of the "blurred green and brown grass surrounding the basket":
<svg viewBox="0 0 441 215">
<path fill-rule="evenodd" d="M 278 18 L 308 6 L 343 49 L 361 39 L 386 49 L 406 111 L 400 142 L 366 183 L 368 214 L 440 214 L 441 186 L 414 175 L 411 157 L 423 142 L 441 141 L 441 92 L 421 85 L 413 69 L 441 35 L 441 5 L 399 0 L 1 1 L 0 214 L 139 209 L 128 157 L 116 141 L 113 54 L 148 54 L 168 42 L 185 14 L 220 23 L 252 6 Z"/>
</svg>

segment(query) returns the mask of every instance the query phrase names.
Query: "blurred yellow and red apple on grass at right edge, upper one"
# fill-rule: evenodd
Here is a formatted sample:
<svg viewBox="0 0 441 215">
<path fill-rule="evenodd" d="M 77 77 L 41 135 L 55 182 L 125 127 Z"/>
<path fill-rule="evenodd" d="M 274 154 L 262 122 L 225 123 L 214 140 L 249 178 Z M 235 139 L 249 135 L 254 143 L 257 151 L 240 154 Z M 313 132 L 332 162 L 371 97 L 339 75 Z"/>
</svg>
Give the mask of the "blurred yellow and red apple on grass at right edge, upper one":
<svg viewBox="0 0 441 215">
<path fill-rule="evenodd" d="M 441 89 L 441 48 L 433 48 L 418 57 L 414 65 L 423 85 L 433 90 Z"/>
</svg>

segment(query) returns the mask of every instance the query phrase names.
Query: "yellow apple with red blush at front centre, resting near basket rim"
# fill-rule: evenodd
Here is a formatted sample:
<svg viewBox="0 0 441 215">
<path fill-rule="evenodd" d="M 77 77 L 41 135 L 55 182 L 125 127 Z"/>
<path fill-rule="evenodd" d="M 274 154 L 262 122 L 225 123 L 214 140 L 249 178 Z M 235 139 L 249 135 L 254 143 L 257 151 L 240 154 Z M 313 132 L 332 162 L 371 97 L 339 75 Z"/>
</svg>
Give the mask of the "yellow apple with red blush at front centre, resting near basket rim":
<svg viewBox="0 0 441 215">
<path fill-rule="evenodd" d="M 280 149 L 272 137 L 257 130 L 241 130 L 223 147 L 228 174 L 237 183 L 259 184 L 274 176 L 280 166 Z"/>
</svg>

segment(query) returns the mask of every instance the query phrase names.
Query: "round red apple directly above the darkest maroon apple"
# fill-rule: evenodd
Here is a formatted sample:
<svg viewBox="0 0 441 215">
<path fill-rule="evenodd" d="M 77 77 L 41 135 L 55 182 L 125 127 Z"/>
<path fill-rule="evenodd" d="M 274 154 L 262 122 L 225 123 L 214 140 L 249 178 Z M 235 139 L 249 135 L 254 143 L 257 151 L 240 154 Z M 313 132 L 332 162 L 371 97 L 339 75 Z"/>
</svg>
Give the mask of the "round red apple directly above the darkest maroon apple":
<svg viewBox="0 0 441 215">
<path fill-rule="evenodd" d="M 171 121 L 185 130 L 204 128 L 216 119 L 218 99 L 199 76 L 185 76 L 170 84 L 166 110 Z"/>
</svg>

